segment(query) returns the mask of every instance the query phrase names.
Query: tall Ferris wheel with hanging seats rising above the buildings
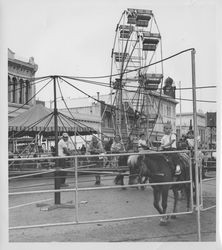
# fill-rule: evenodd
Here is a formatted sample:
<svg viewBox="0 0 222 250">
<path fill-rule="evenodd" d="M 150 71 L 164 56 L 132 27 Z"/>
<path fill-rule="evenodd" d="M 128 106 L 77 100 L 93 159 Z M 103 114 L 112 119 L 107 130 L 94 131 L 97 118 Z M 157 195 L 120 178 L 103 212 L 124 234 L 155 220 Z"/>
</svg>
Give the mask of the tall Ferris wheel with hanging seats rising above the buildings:
<svg viewBox="0 0 222 250">
<path fill-rule="evenodd" d="M 151 10 L 127 9 L 115 31 L 111 54 L 111 103 L 115 132 L 122 139 L 143 132 L 148 137 L 150 91 L 157 91 L 163 79 L 161 35 Z M 150 66 L 149 66 L 150 65 Z M 156 109 L 157 113 L 157 109 Z"/>
</svg>

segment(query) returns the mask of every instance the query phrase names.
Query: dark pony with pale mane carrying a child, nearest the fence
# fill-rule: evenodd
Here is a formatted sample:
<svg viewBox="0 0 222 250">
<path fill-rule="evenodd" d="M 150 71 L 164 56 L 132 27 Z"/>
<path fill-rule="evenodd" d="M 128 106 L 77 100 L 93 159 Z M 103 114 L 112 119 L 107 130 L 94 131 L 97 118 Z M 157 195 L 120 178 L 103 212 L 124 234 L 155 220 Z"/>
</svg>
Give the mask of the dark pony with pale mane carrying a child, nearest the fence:
<svg viewBox="0 0 222 250">
<path fill-rule="evenodd" d="M 174 177 L 172 168 L 173 157 L 177 154 L 179 156 L 179 164 L 181 166 L 181 174 Z M 173 154 L 146 154 L 146 155 L 132 155 L 128 158 L 128 166 L 130 169 L 129 184 L 145 183 L 149 178 L 150 183 L 173 182 L 190 180 L 189 158 L 185 153 Z M 145 180 L 142 182 L 142 177 Z M 174 208 L 173 212 L 177 212 L 178 191 L 184 190 L 187 198 L 187 210 L 190 208 L 190 183 L 183 183 L 177 185 L 153 185 L 153 205 L 160 214 L 166 214 L 167 200 L 170 188 L 174 194 Z M 161 205 L 160 205 L 160 200 Z M 172 218 L 175 218 L 173 216 Z M 168 217 L 163 216 L 160 225 L 167 223 Z"/>
</svg>

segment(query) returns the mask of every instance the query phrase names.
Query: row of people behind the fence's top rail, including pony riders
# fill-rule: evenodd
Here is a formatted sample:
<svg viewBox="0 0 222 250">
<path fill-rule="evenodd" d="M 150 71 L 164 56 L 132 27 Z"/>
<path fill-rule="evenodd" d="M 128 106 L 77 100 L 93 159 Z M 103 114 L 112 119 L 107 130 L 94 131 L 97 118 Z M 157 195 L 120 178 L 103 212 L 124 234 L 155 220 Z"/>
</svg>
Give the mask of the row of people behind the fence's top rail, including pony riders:
<svg viewBox="0 0 222 250">
<path fill-rule="evenodd" d="M 119 156 L 105 156 L 106 154 L 118 154 L 124 152 L 142 152 L 144 150 L 157 150 L 157 151 L 174 151 L 188 149 L 192 153 L 194 151 L 194 133 L 189 130 L 186 135 L 177 140 L 176 134 L 172 132 L 172 125 L 166 123 L 163 126 L 164 135 L 159 141 L 157 147 L 153 147 L 152 143 L 149 142 L 144 133 L 139 135 L 137 144 L 132 137 L 127 138 L 123 143 L 122 138 L 116 135 L 114 138 L 109 138 L 104 142 L 99 137 L 92 135 L 91 141 L 82 144 L 78 149 L 74 146 L 71 137 L 68 133 L 63 133 L 61 139 L 58 142 L 58 156 L 61 157 L 58 161 L 60 168 L 67 168 L 70 166 L 70 160 L 65 159 L 65 156 L 72 154 L 80 155 L 95 155 L 95 157 L 89 157 L 91 162 L 95 162 L 96 167 L 107 167 L 111 164 L 121 165 L 121 157 Z M 75 152 L 75 153 L 74 153 Z M 51 147 L 51 154 L 55 156 L 55 147 Z M 200 153 L 201 154 L 201 153 Z M 167 156 L 167 154 L 164 154 Z M 201 159 L 203 155 L 198 155 Z M 104 160 L 105 159 L 105 160 Z M 174 159 L 173 170 L 175 175 L 181 173 L 180 166 L 177 164 L 177 159 Z M 61 171 L 61 183 L 60 186 L 67 186 L 65 183 L 66 172 Z M 100 184 L 100 176 L 96 175 L 96 184 Z"/>
</svg>

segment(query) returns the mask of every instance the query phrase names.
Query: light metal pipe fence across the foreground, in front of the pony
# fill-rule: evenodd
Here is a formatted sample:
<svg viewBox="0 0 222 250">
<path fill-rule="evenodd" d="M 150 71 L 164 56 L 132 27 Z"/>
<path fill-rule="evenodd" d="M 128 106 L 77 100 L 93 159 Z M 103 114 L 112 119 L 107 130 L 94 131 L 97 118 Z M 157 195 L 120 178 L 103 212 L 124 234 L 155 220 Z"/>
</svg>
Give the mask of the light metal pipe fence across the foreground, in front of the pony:
<svg viewBox="0 0 222 250">
<path fill-rule="evenodd" d="M 119 157 L 119 156 L 129 156 L 129 155 L 146 155 L 146 154 L 171 154 L 171 153 L 175 153 L 175 152 L 180 152 L 180 153 L 189 153 L 189 151 L 167 151 L 167 152 L 139 152 L 139 153 L 124 153 L 124 154 L 107 154 L 103 157 Z M 74 155 L 74 156 L 68 156 L 68 157 L 63 157 L 63 158 L 68 158 L 70 159 L 70 161 L 73 162 L 73 167 L 68 168 L 68 169 L 60 169 L 62 171 L 72 171 L 74 172 L 74 176 L 75 176 L 75 188 L 68 188 L 68 189 L 50 189 L 50 190 L 36 190 L 36 191 L 25 191 L 25 192 L 10 192 L 9 196 L 17 196 L 17 195 L 34 195 L 34 194 L 46 194 L 46 193 L 62 193 L 62 192 L 75 192 L 75 204 L 79 204 L 79 197 L 78 194 L 79 192 L 83 192 L 83 191 L 92 191 L 92 190 L 97 190 L 97 191 L 101 191 L 101 190 L 110 190 L 110 189 L 120 189 L 123 188 L 122 185 L 115 185 L 115 186 L 102 186 L 102 187 L 79 187 L 79 181 L 78 181 L 78 175 L 79 173 L 84 169 L 84 166 L 79 166 L 78 163 L 78 158 L 87 158 L 90 159 L 91 157 L 95 157 L 95 155 Z M 27 158 L 28 160 L 30 160 L 30 158 Z M 42 160 L 43 158 L 41 158 Z M 46 157 L 45 159 L 50 159 L 50 160 L 55 160 L 55 159 L 61 159 L 61 157 Z M 25 161 L 26 159 L 16 159 L 19 161 Z M 37 158 L 33 158 L 32 160 L 37 161 Z M 9 162 L 12 162 L 13 159 L 9 159 Z M 192 176 L 192 162 L 191 162 L 191 157 L 189 157 L 189 171 L 190 171 L 190 180 L 188 181 L 179 181 L 179 182 L 160 182 L 160 183 L 146 183 L 146 184 L 134 184 L 134 185 L 124 185 L 124 187 L 145 187 L 145 186 L 154 186 L 154 185 L 177 185 L 177 184 L 185 184 L 185 183 L 189 183 L 190 184 L 190 192 L 191 192 L 191 209 L 190 211 L 187 212 L 179 212 L 179 213 L 166 213 L 165 215 L 183 215 L 183 214 L 191 214 L 194 211 L 194 207 L 196 208 L 196 210 L 200 210 L 201 211 L 201 206 L 200 205 L 196 205 L 194 206 L 193 203 L 193 176 Z M 82 169 L 83 168 L 83 169 Z M 106 171 L 106 168 L 101 168 L 101 172 L 100 171 L 95 171 L 93 172 L 93 168 L 92 168 L 92 172 L 90 172 L 90 174 L 101 174 L 101 175 L 117 175 L 118 172 L 112 172 Z M 103 171 L 104 170 L 104 171 Z M 121 170 L 121 168 L 119 169 Z M 126 169 L 124 169 L 125 171 L 127 171 Z M 56 169 L 51 170 L 51 172 L 56 171 Z M 39 173 L 35 173 L 33 175 L 38 175 L 38 174 L 43 174 L 43 173 L 49 173 L 50 171 L 45 171 L 45 172 L 39 172 Z M 124 173 L 125 175 L 128 175 L 127 173 Z M 23 175 L 22 177 L 28 177 L 31 175 Z M 21 177 L 20 177 L 21 178 Z M 15 179 L 15 178 L 14 178 Z M 11 178 L 12 180 L 12 178 Z M 201 192 L 201 196 L 202 196 L 202 192 Z M 18 206 L 19 207 L 19 206 Z M 202 211 L 206 211 L 209 209 L 214 208 L 215 206 L 211 206 L 209 208 L 204 208 L 204 210 Z M 51 223 L 51 224 L 40 224 L 40 225 L 30 225 L 30 226 L 16 226 L 16 227 L 9 227 L 9 230 L 15 230 L 15 229 L 27 229 L 27 228 L 38 228 L 38 227 L 51 227 L 51 226 L 64 226 L 64 225 L 78 225 L 78 224 L 92 224 L 92 223 L 105 223 L 105 222 L 117 222 L 117 221 L 125 221 L 125 220 L 134 220 L 134 219 L 142 219 L 142 218 L 151 218 L 151 217 L 161 217 L 163 216 L 163 214 L 155 214 L 155 215 L 143 215 L 143 216 L 132 216 L 132 217 L 124 217 L 124 218 L 115 218 L 115 219 L 105 219 L 105 220 L 92 220 L 92 221 L 81 221 L 79 220 L 79 207 L 78 205 L 75 206 L 75 221 L 71 221 L 71 222 L 61 222 L 61 223 Z"/>
</svg>

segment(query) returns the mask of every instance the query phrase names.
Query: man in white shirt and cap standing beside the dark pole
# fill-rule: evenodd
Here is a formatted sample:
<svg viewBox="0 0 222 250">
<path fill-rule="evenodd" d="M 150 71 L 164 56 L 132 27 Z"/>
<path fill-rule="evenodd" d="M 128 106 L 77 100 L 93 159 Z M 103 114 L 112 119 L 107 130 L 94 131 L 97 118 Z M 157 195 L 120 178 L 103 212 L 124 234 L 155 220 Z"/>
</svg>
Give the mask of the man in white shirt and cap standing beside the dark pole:
<svg viewBox="0 0 222 250">
<path fill-rule="evenodd" d="M 59 159 L 59 167 L 66 168 L 69 166 L 69 162 L 65 159 L 65 156 L 71 155 L 71 141 L 69 139 L 69 135 L 67 133 L 62 134 L 62 138 L 59 140 L 58 143 L 58 156 L 63 157 Z M 68 184 L 65 183 L 67 173 L 65 171 L 60 171 L 59 176 L 60 178 L 60 187 L 67 187 Z"/>
</svg>

